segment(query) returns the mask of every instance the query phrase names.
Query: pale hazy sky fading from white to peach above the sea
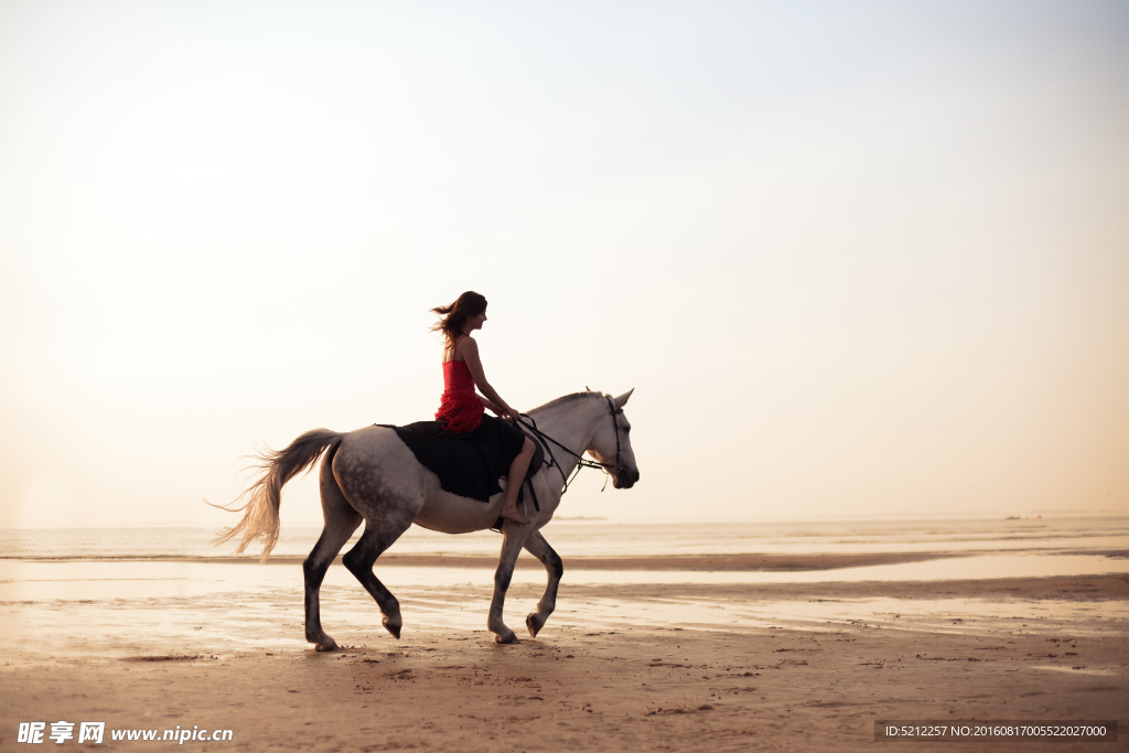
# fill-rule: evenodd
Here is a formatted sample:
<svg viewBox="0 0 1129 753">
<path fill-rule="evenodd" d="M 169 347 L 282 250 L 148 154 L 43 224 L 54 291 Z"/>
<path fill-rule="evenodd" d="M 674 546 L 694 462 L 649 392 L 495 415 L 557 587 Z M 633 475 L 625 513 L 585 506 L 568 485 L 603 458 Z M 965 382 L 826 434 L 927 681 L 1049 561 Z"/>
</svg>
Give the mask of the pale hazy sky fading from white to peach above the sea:
<svg viewBox="0 0 1129 753">
<path fill-rule="evenodd" d="M 0 526 L 231 523 L 471 289 L 636 391 L 560 515 L 1129 514 L 1129 5 L 0 1 Z"/>
</svg>

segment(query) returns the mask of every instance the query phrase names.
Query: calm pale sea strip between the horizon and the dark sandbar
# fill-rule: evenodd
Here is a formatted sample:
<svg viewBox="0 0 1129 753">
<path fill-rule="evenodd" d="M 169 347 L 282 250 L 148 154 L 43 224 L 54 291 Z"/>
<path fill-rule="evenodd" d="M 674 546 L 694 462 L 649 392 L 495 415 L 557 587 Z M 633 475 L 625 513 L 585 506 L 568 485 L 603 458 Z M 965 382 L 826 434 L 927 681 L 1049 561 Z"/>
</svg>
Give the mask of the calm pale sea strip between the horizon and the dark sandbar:
<svg viewBox="0 0 1129 753">
<path fill-rule="evenodd" d="M 212 528 L 0 528 L 0 559 L 211 558 Z M 851 554 L 965 552 L 1064 554 L 1129 550 L 1129 516 L 627 523 L 554 519 L 542 534 L 561 557 L 663 554 Z M 305 557 L 320 527 L 282 527 L 274 555 Z M 353 541 L 359 533 L 353 536 Z M 388 550 L 401 554 L 497 554 L 492 532 L 440 534 L 413 526 Z M 348 551 L 347 544 L 342 551 Z M 246 552 L 257 557 L 254 546 Z"/>
</svg>

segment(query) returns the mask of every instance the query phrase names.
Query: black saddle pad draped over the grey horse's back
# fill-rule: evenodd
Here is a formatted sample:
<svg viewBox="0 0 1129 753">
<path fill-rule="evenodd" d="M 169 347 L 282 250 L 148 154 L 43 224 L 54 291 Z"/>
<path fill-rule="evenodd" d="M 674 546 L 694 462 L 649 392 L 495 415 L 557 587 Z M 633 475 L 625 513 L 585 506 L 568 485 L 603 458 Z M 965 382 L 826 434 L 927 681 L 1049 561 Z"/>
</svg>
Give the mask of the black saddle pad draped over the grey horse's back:
<svg viewBox="0 0 1129 753">
<path fill-rule="evenodd" d="M 444 491 L 488 502 L 501 492 L 499 479 L 509 472 L 514 457 L 522 452 L 523 432 L 501 420 L 483 417 L 474 431 L 455 432 L 438 421 L 417 421 L 408 426 L 375 426 L 392 429 L 415 459 L 437 476 Z M 537 455 L 544 458 L 540 443 L 526 478 L 541 470 Z"/>
</svg>

